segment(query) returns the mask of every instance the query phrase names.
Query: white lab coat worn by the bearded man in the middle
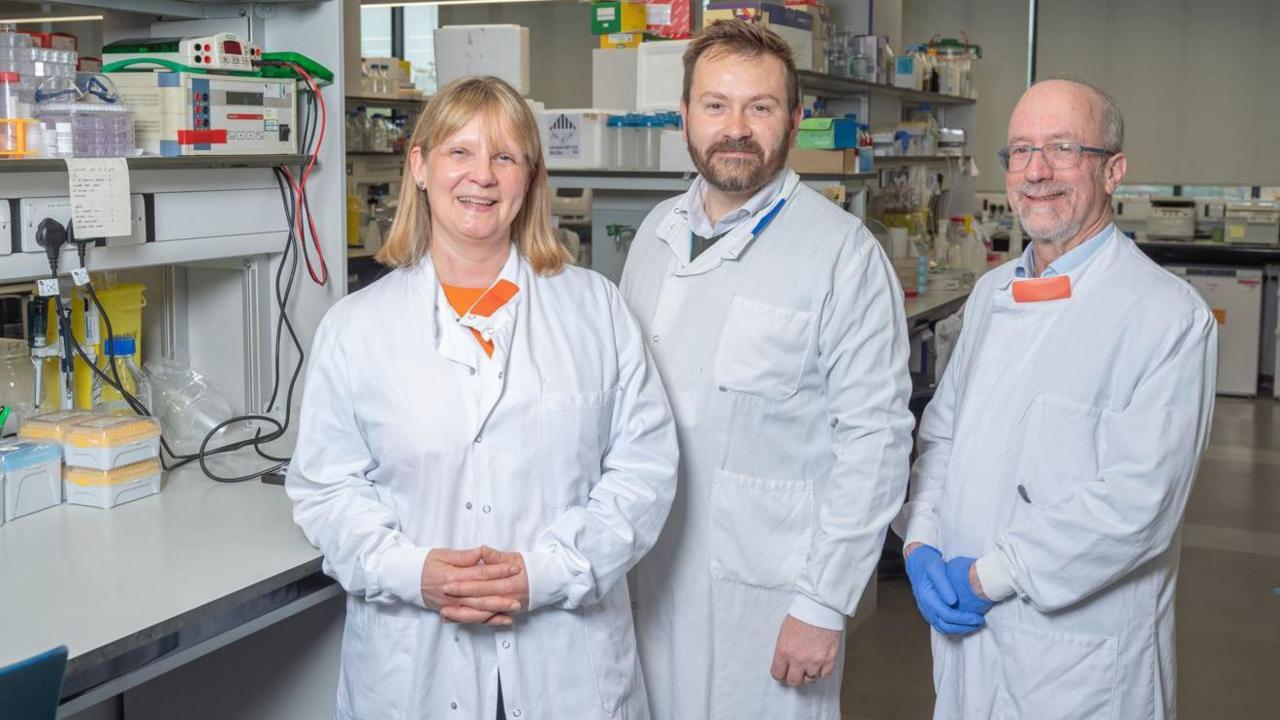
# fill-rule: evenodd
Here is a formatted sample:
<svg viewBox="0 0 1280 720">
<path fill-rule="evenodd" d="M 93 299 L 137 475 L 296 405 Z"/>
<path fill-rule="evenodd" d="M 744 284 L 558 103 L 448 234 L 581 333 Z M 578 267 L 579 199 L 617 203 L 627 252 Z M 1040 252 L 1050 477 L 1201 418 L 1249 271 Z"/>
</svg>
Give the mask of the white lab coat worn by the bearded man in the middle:
<svg viewBox="0 0 1280 720">
<path fill-rule="evenodd" d="M 902 292 L 874 237 L 788 172 L 685 265 L 680 199 L 649 214 L 622 293 L 671 397 L 680 491 L 632 571 L 654 717 L 837 719 L 833 676 L 769 675 L 782 620 L 842 629 L 906 489 Z"/>
</svg>

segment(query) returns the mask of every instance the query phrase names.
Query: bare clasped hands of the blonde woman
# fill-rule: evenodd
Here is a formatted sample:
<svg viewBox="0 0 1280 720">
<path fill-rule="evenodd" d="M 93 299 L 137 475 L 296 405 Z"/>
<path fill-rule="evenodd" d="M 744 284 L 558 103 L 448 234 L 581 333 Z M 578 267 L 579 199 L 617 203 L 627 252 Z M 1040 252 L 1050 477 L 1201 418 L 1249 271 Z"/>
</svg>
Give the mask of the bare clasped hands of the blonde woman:
<svg viewBox="0 0 1280 720">
<path fill-rule="evenodd" d="M 447 623 L 511 625 L 529 610 L 529 573 L 518 552 L 434 548 L 422 564 L 422 600 Z"/>
</svg>

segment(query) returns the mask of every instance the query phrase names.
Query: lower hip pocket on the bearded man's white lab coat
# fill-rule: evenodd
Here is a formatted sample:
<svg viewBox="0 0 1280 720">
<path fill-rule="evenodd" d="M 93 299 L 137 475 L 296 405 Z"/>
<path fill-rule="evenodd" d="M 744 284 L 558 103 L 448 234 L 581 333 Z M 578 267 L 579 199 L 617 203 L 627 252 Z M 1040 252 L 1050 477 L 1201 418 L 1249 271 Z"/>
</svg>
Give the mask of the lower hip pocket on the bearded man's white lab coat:
<svg viewBox="0 0 1280 720">
<path fill-rule="evenodd" d="M 712 577 L 788 588 L 804 569 L 813 534 L 808 482 L 718 470 L 712 484 Z"/>
</svg>

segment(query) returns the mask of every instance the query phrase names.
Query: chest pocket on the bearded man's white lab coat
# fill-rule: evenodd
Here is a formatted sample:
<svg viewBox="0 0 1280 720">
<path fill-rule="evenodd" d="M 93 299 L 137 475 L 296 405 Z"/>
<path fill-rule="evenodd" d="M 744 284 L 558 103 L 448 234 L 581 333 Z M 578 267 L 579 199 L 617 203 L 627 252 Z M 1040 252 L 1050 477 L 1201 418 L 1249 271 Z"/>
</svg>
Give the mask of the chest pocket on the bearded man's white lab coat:
<svg viewBox="0 0 1280 720">
<path fill-rule="evenodd" d="M 814 314 L 735 297 L 712 373 L 722 389 L 786 400 L 800 388 Z"/>
</svg>

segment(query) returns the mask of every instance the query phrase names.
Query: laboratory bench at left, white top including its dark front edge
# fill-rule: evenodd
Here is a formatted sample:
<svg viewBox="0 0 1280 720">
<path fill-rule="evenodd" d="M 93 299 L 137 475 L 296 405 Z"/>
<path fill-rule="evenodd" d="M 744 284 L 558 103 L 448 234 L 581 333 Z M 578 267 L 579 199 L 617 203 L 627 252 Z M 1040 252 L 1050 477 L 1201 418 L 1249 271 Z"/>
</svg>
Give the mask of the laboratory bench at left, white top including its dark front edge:
<svg viewBox="0 0 1280 720">
<path fill-rule="evenodd" d="M 0 666 L 65 644 L 68 715 L 340 594 L 291 512 L 280 486 L 184 468 L 0 525 Z"/>
</svg>

